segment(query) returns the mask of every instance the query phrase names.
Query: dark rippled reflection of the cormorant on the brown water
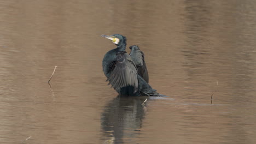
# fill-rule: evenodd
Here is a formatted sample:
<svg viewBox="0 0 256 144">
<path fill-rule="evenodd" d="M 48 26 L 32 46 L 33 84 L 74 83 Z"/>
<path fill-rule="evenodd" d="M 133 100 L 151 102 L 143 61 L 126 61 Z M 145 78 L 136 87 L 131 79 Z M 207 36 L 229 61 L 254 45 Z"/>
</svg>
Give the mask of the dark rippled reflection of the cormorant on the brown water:
<svg viewBox="0 0 256 144">
<path fill-rule="evenodd" d="M 146 114 L 146 99 L 116 97 L 108 103 L 101 115 L 104 143 L 133 143 Z"/>
</svg>

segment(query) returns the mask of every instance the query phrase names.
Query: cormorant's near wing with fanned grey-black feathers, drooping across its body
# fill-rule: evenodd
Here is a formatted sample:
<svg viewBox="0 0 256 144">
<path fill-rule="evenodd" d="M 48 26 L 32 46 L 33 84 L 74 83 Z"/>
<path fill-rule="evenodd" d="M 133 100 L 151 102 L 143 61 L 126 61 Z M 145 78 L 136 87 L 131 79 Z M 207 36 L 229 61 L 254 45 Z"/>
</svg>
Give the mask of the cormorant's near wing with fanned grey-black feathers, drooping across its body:
<svg viewBox="0 0 256 144">
<path fill-rule="evenodd" d="M 107 79 L 114 89 L 133 86 L 138 90 L 137 69 L 131 57 L 124 51 L 117 53 L 117 61 L 110 64 L 110 75 Z"/>
</svg>

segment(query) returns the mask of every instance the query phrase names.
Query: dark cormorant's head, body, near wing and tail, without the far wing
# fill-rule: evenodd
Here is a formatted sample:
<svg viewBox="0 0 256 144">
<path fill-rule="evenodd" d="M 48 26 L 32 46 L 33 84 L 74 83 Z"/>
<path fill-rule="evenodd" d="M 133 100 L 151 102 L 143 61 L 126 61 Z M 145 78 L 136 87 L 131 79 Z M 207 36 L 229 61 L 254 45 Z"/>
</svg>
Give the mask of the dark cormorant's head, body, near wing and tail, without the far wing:
<svg viewBox="0 0 256 144">
<path fill-rule="evenodd" d="M 160 94 L 138 74 L 135 62 L 126 53 L 126 38 L 121 34 L 102 37 L 112 40 L 117 45 L 117 48 L 106 53 L 102 61 L 108 84 L 111 84 L 120 96 L 159 96 Z"/>
</svg>

